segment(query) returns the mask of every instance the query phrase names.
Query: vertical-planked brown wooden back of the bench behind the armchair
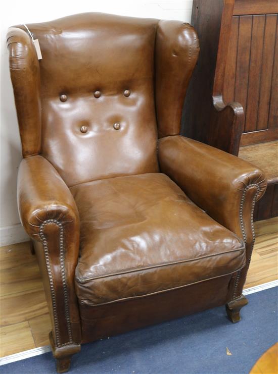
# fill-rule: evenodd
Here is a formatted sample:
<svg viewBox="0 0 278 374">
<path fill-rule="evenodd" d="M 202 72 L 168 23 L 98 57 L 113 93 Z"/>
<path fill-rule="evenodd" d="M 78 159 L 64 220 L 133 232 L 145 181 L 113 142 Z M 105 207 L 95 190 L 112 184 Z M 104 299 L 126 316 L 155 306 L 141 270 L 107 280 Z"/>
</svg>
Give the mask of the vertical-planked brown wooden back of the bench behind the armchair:
<svg viewBox="0 0 278 374">
<path fill-rule="evenodd" d="M 277 14 L 263 13 L 233 16 L 231 26 L 223 98 L 243 106 L 241 146 L 278 139 Z"/>
</svg>

